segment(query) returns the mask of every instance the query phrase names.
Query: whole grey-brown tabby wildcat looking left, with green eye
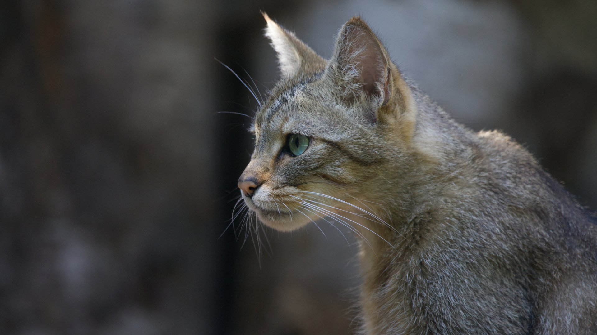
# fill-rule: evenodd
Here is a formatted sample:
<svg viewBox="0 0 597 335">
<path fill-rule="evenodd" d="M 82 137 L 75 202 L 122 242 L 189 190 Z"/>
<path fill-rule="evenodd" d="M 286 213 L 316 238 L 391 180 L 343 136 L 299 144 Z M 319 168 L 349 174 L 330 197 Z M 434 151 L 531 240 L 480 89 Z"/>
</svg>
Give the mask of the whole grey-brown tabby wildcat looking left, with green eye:
<svg viewBox="0 0 597 335">
<path fill-rule="evenodd" d="M 264 17 L 281 79 L 238 187 L 268 227 L 355 232 L 365 334 L 597 334 L 597 219 L 525 148 L 450 119 L 361 18 L 324 60 Z"/>
</svg>

